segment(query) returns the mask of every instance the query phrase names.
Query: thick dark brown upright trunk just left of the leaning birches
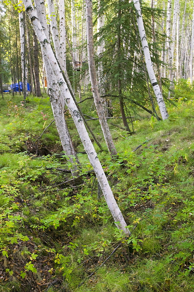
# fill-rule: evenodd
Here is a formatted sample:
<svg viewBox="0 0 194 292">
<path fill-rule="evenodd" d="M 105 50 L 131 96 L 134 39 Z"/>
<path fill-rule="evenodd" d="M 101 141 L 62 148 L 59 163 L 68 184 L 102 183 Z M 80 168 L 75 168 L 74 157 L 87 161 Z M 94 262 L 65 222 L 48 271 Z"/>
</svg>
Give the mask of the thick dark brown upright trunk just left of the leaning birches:
<svg viewBox="0 0 194 292">
<path fill-rule="evenodd" d="M 39 60 L 38 60 L 38 41 L 36 34 L 33 33 L 33 53 L 34 53 L 34 79 L 36 84 L 36 95 L 41 96 L 40 79 L 39 79 Z M 44 85 L 43 85 L 44 86 Z"/>
</svg>

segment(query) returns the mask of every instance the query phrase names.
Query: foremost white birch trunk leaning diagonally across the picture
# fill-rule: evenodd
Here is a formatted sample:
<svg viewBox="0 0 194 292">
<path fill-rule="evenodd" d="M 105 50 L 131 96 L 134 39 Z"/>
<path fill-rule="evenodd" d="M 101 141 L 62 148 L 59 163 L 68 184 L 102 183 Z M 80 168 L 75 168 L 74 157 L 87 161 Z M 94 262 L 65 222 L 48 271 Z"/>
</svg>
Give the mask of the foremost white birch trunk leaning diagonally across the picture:
<svg viewBox="0 0 194 292">
<path fill-rule="evenodd" d="M 120 209 L 119 209 L 119 207 L 114 199 L 114 196 L 113 196 L 112 190 L 108 184 L 106 175 L 103 171 L 103 168 L 100 164 L 100 161 L 98 159 L 98 156 L 96 154 L 94 146 L 93 146 L 93 144 L 89 138 L 89 135 L 86 131 L 86 128 L 84 126 L 84 122 L 82 121 L 82 117 L 81 117 L 79 111 L 77 110 L 77 107 L 75 105 L 75 102 L 74 102 L 72 96 L 70 95 L 70 91 L 68 90 L 67 84 L 63 78 L 63 74 L 61 73 L 59 65 L 57 64 L 57 60 L 54 56 L 52 48 L 51 48 L 49 42 L 47 41 L 45 33 L 41 27 L 40 21 L 38 20 L 38 17 L 34 11 L 31 0 L 24 0 L 24 6 L 25 6 L 27 14 L 31 20 L 33 28 L 36 32 L 37 38 L 38 38 L 38 40 L 43 48 L 45 55 L 47 56 L 47 60 L 49 61 L 50 67 L 52 69 L 54 77 L 56 78 L 56 81 L 57 81 L 57 84 L 61 90 L 61 93 L 64 95 L 66 105 L 70 111 L 70 114 L 73 118 L 73 121 L 74 121 L 75 126 L 77 128 L 77 131 L 78 131 L 80 138 L 82 140 L 82 143 L 84 145 L 84 148 L 88 154 L 89 161 L 94 168 L 94 171 L 96 173 L 96 177 L 98 178 L 98 181 L 100 183 L 100 187 L 103 191 L 108 208 L 110 209 L 110 211 L 112 213 L 115 224 L 117 225 L 118 229 L 123 230 L 124 234 L 126 236 L 128 236 L 128 235 L 130 235 L 130 231 L 128 230 L 126 222 L 123 218 L 123 215 L 121 214 L 121 211 L 120 211 Z"/>
</svg>

